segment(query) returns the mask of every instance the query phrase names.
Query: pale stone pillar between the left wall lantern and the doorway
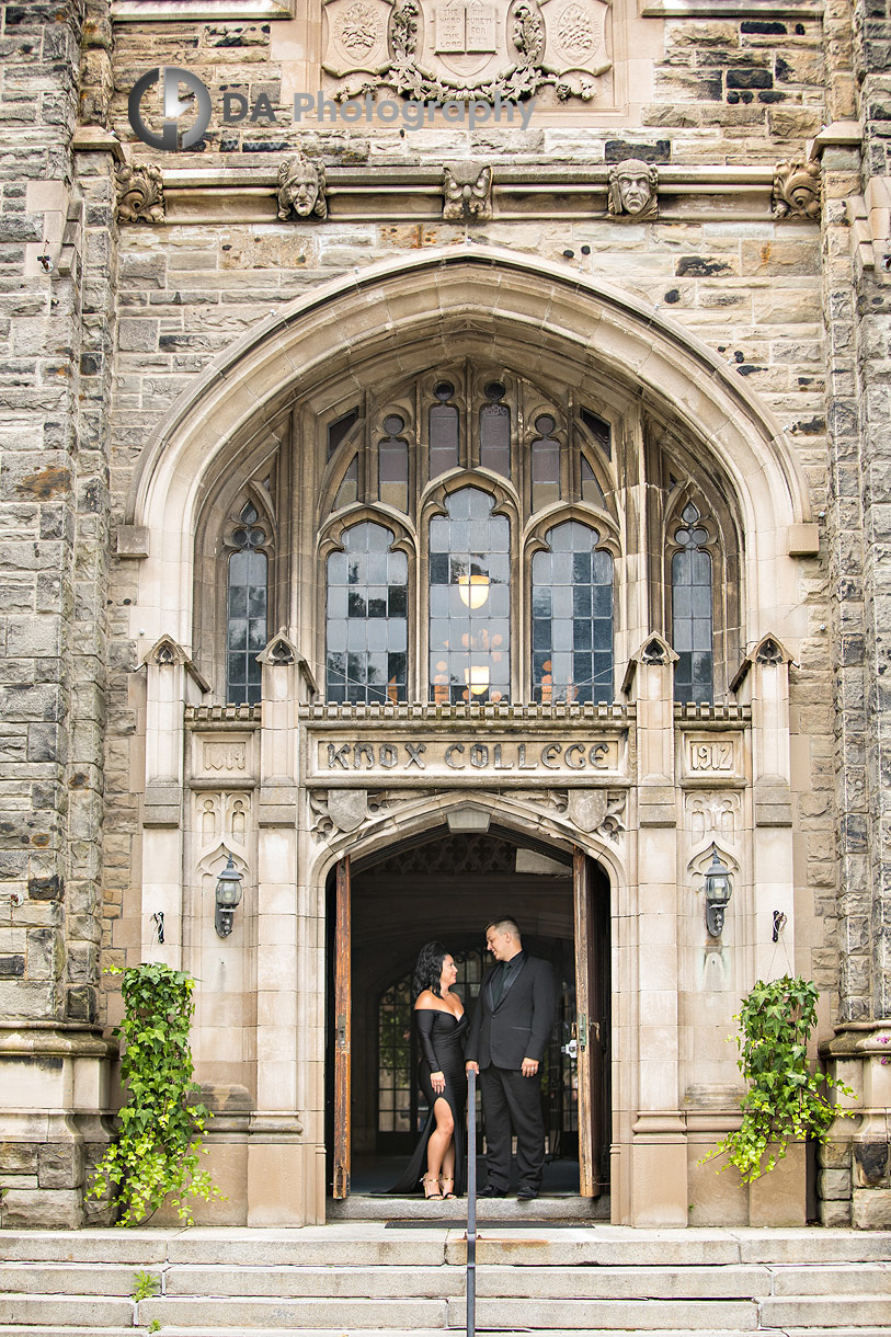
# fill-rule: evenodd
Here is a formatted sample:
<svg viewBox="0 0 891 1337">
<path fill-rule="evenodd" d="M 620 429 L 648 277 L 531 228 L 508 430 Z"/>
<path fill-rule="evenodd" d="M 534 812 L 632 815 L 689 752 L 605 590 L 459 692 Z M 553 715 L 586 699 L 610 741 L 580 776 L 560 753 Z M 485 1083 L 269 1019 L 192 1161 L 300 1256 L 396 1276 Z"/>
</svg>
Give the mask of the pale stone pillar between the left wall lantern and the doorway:
<svg viewBox="0 0 891 1337">
<path fill-rule="evenodd" d="M 304 1140 L 305 1078 L 298 1067 L 306 988 L 296 885 L 300 667 L 293 643 L 281 632 L 260 660 L 257 1100 L 248 1139 L 248 1223 L 301 1225 L 314 1158 Z"/>
</svg>

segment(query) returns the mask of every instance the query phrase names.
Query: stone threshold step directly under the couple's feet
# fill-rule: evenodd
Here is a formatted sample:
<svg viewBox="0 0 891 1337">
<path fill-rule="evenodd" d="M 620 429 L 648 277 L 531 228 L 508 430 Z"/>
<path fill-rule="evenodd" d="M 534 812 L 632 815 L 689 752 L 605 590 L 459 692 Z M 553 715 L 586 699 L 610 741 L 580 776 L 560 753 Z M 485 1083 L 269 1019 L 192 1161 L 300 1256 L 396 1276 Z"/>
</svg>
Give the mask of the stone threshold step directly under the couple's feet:
<svg viewBox="0 0 891 1337">
<path fill-rule="evenodd" d="M 329 1199 L 325 1215 L 328 1221 L 384 1221 L 393 1225 L 437 1226 L 444 1222 L 467 1221 L 467 1199 L 425 1202 L 423 1198 L 389 1198 L 355 1193 L 342 1201 Z M 578 1194 L 542 1194 L 531 1202 L 519 1202 L 516 1198 L 479 1198 L 476 1219 L 499 1226 L 523 1222 L 578 1225 L 609 1221 L 610 1199 L 609 1197 L 579 1198 Z"/>
</svg>

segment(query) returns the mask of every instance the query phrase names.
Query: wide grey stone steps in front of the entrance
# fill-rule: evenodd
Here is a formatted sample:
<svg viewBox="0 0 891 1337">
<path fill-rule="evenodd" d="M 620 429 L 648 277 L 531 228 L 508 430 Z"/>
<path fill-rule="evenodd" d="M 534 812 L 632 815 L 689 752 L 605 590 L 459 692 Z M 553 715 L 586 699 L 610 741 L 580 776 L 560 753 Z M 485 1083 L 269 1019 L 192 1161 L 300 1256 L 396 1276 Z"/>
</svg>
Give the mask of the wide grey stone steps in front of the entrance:
<svg viewBox="0 0 891 1337">
<path fill-rule="evenodd" d="M 448 1225 L 0 1231 L 0 1337 L 443 1337 L 464 1329 L 464 1251 Z M 887 1233 L 499 1227 L 479 1242 L 476 1324 L 888 1337 L 890 1259 Z M 158 1293 L 136 1302 L 146 1271 Z"/>
</svg>

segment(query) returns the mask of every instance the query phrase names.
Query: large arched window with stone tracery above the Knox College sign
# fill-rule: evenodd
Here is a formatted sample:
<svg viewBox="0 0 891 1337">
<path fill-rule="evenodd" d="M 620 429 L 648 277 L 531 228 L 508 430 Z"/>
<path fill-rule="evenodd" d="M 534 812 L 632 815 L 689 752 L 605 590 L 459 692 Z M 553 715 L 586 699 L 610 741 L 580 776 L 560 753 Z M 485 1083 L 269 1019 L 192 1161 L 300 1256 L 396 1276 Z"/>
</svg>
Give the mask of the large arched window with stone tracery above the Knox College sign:
<svg viewBox="0 0 891 1337">
<path fill-rule="evenodd" d="M 261 481 L 241 495 L 226 481 L 202 521 L 214 690 L 258 702 L 257 655 L 286 627 L 334 702 L 610 701 L 645 627 L 680 655 L 676 699 L 713 701 L 741 626 L 732 487 L 649 410 L 622 417 L 607 386 L 607 421 L 593 393 L 444 364 L 380 392 L 353 385 L 316 420 L 312 465 L 305 435 L 272 473 L 257 452 Z M 313 575 L 293 537 L 310 513 Z"/>
</svg>

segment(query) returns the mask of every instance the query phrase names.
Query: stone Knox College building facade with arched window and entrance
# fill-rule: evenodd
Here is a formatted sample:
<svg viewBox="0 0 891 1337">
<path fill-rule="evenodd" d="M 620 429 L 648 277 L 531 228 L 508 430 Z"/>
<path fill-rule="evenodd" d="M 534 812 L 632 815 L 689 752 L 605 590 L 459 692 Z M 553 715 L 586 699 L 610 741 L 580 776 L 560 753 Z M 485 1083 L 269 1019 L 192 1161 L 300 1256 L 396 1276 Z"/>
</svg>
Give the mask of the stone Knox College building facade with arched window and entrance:
<svg viewBox="0 0 891 1337">
<path fill-rule="evenodd" d="M 511 896 L 614 1221 L 887 1226 L 886 7 L 1 12 L 3 1225 L 103 1218 L 140 960 L 207 1219 L 324 1221 L 419 943 Z M 748 1190 L 785 972 L 858 1099 Z"/>
</svg>

